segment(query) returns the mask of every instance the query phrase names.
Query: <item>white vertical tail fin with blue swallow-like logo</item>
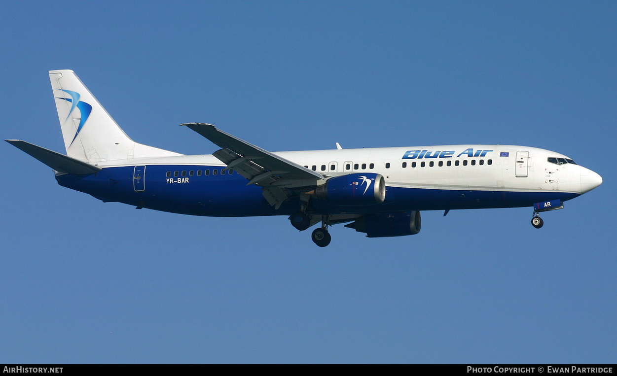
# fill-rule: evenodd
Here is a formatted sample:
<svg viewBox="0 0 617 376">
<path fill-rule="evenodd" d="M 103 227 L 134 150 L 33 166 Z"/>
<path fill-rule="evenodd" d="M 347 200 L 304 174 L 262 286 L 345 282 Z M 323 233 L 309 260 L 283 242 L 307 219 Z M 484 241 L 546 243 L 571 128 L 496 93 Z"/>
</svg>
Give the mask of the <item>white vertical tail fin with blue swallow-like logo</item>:
<svg viewBox="0 0 617 376">
<path fill-rule="evenodd" d="M 94 164 L 180 155 L 131 140 L 72 70 L 51 70 L 49 80 L 69 157 Z"/>
</svg>

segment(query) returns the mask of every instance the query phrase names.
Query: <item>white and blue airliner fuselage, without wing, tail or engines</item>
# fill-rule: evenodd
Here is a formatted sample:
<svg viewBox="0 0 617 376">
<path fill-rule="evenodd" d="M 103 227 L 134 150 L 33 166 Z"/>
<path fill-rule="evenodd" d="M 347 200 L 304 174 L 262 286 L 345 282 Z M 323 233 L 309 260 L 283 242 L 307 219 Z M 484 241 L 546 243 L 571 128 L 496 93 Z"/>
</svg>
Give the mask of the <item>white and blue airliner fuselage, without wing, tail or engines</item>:
<svg viewBox="0 0 617 376">
<path fill-rule="evenodd" d="M 426 153 L 420 158 L 410 151 Z M 444 153 L 448 152 L 448 153 Z M 452 153 L 450 153 L 452 152 Z M 360 206 L 315 202 L 315 215 L 375 211 L 513 208 L 550 200 L 566 201 L 598 185 L 597 174 L 549 150 L 514 145 L 443 145 L 375 149 L 277 152 L 298 165 L 329 176 L 379 173 L 386 180 L 383 203 Z M 437 155 L 437 157 L 427 157 Z M 441 154 L 441 157 L 439 156 Z M 478 155 L 474 157 L 474 155 Z M 516 155 L 524 155 L 517 163 Z M 297 202 L 288 200 L 276 210 L 259 186 L 223 171 L 226 165 L 212 155 L 136 158 L 130 163 L 101 162 L 102 170 L 88 176 L 56 175 L 60 185 L 104 201 L 201 216 L 291 215 Z M 136 166 L 143 180 L 135 186 Z M 518 176 L 517 176 L 518 175 Z M 297 200 L 296 200 L 297 201 Z M 317 201 L 317 200 L 316 200 Z"/>
</svg>

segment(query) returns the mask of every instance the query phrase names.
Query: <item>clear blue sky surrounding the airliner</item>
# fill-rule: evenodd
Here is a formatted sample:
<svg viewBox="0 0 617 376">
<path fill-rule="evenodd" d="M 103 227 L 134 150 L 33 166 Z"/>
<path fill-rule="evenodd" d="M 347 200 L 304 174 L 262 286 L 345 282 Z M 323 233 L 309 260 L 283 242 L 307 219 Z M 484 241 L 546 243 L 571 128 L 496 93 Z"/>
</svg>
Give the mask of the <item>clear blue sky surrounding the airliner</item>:
<svg viewBox="0 0 617 376">
<path fill-rule="evenodd" d="M 48 70 L 135 141 L 555 150 L 602 186 L 411 237 L 102 203 L 0 145 L 0 363 L 615 362 L 617 2 L 0 2 L 2 139 L 64 153 Z"/>
</svg>

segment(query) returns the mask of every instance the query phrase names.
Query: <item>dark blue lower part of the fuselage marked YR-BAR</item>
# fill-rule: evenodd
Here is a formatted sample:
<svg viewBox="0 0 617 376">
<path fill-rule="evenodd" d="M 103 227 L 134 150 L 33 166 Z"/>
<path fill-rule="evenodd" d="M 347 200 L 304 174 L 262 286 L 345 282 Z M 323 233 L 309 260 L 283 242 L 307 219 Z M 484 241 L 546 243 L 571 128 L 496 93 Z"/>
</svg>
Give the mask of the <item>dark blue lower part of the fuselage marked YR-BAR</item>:
<svg viewBox="0 0 617 376">
<path fill-rule="evenodd" d="M 200 176 L 197 176 L 194 172 L 197 170 L 209 170 L 212 173 L 200 173 Z M 217 174 L 213 174 L 215 170 Z M 260 187 L 247 186 L 247 180 L 241 175 L 221 174 L 221 170 L 221 166 L 148 165 L 141 180 L 136 180 L 135 166 L 123 166 L 104 168 L 98 173 L 86 175 L 58 174 L 56 179 L 60 186 L 85 192 L 104 202 L 122 202 L 187 215 L 290 215 L 299 209 L 299 199 L 291 197 L 276 210 L 265 200 Z M 174 176 L 175 171 L 178 171 L 178 176 Z M 182 176 L 182 171 L 187 171 L 186 176 Z M 170 177 L 167 177 L 168 173 Z M 313 198 L 307 213 L 334 215 L 382 211 L 514 208 L 549 200 L 566 201 L 578 196 L 576 193 L 558 191 L 387 187 L 386 201 L 379 205 L 334 206 Z"/>
</svg>

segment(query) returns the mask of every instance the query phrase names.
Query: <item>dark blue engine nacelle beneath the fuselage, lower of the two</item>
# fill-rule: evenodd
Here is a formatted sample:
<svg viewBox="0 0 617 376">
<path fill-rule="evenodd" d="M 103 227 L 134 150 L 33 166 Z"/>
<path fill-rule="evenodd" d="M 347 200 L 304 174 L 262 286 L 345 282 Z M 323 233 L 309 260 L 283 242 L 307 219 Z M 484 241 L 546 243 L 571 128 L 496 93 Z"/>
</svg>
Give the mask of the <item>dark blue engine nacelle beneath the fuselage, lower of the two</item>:
<svg viewBox="0 0 617 376">
<path fill-rule="evenodd" d="M 367 214 L 345 227 L 365 232 L 366 237 L 390 237 L 418 234 L 421 224 L 420 211 L 408 211 Z"/>
</svg>

